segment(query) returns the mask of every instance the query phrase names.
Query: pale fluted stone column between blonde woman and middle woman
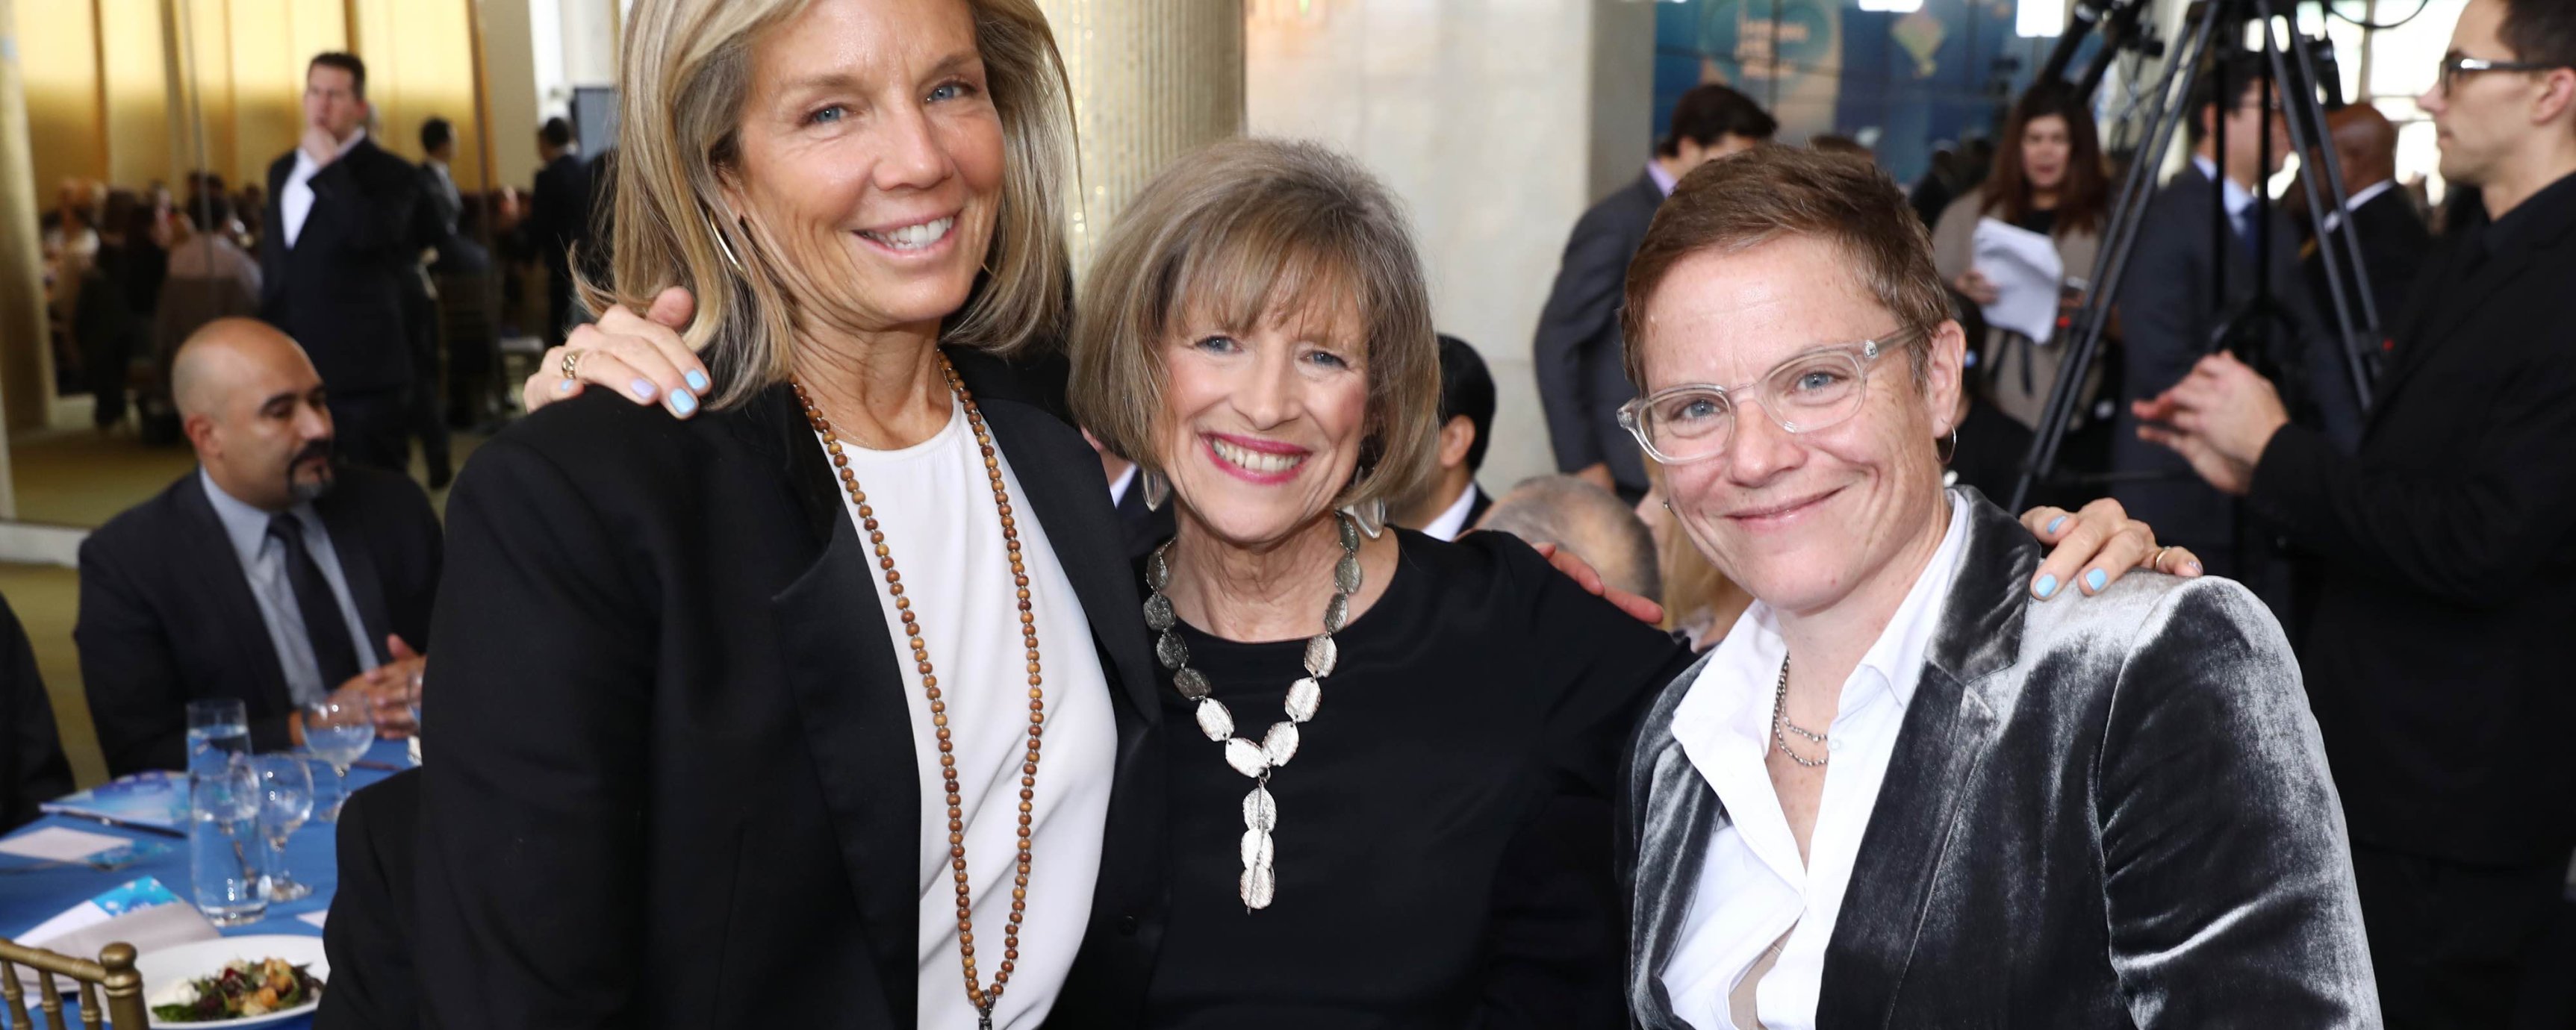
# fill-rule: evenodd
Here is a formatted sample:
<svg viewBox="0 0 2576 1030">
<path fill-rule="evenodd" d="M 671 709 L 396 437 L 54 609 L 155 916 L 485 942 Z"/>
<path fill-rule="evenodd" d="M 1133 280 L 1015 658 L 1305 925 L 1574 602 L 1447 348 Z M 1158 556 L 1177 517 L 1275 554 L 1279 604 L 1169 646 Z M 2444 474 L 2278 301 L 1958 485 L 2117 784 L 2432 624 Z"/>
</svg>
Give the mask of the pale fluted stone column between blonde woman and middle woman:
<svg viewBox="0 0 2576 1030">
<path fill-rule="evenodd" d="M 1074 268 L 1172 157 L 1244 131 L 1244 0 L 1038 0 L 1074 80 Z"/>
</svg>

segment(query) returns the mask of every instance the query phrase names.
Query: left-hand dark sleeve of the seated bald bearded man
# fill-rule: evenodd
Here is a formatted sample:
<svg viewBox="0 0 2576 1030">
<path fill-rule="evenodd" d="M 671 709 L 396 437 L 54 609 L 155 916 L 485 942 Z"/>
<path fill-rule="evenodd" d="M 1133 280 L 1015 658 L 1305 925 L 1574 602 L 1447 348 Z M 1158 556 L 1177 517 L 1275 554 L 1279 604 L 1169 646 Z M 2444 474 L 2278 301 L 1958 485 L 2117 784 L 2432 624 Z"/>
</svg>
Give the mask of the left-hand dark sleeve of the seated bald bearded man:
<svg viewBox="0 0 2576 1030">
<path fill-rule="evenodd" d="M 134 582 L 118 541 L 126 533 L 93 533 L 80 543 L 80 621 L 72 623 L 80 690 L 90 700 L 108 775 L 185 770 L 188 688 L 180 682 L 170 633 L 144 600 L 144 585 Z M 283 729 L 283 716 L 278 726 Z"/>
</svg>

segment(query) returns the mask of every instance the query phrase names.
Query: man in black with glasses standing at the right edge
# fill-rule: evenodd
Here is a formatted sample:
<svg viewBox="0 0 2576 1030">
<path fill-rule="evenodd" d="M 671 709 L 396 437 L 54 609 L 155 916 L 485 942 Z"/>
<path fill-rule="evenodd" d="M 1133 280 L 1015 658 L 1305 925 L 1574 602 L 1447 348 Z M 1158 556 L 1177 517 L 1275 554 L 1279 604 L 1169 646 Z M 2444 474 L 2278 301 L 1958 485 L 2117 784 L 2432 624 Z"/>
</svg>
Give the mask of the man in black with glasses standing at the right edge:
<svg viewBox="0 0 2576 1030">
<path fill-rule="evenodd" d="M 2300 659 L 2388 1025 L 2548 1025 L 2576 852 L 2576 5 L 2470 0 L 2419 103 L 2488 221 L 2427 258 L 2360 451 L 2228 355 L 2138 415 L 2316 559 Z"/>
</svg>

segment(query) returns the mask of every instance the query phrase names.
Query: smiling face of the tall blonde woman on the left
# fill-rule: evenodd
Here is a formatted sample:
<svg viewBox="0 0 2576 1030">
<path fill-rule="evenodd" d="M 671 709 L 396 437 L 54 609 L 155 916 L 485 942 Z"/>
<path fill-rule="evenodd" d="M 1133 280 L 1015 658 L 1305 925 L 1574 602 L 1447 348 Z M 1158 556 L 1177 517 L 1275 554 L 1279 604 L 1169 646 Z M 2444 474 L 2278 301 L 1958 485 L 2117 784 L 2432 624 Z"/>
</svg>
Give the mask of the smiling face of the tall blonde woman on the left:
<svg viewBox="0 0 2576 1030">
<path fill-rule="evenodd" d="M 935 327 L 974 291 L 1002 165 L 966 0 L 817 0 L 752 49 L 726 206 L 799 324 Z"/>
</svg>

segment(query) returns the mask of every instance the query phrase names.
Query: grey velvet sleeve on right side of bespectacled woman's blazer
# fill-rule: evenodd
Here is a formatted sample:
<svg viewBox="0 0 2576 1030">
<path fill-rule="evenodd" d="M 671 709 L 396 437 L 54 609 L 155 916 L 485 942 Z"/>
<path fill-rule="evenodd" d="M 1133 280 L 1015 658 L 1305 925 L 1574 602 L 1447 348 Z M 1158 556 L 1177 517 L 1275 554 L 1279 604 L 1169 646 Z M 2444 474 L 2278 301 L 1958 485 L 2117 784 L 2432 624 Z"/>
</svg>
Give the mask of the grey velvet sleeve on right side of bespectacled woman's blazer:
<svg viewBox="0 0 2576 1030">
<path fill-rule="evenodd" d="M 2342 801 L 2272 613 L 2166 582 L 2110 659 L 2094 821 L 2136 1022 L 2378 1027 Z"/>
</svg>

